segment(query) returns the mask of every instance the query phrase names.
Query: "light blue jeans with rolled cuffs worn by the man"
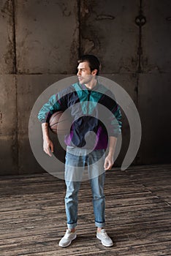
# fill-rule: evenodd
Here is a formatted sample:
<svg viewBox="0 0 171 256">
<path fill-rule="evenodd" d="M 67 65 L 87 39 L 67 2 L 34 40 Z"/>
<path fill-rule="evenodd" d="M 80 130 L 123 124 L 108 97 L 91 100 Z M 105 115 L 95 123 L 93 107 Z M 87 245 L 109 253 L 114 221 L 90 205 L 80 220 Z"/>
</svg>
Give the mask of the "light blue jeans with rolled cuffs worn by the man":
<svg viewBox="0 0 171 256">
<path fill-rule="evenodd" d="M 74 149 L 73 149 L 74 150 Z M 65 183 L 66 183 L 66 221 L 68 228 L 77 226 L 77 195 L 83 178 L 85 165 L 88 166 L 88 178 L 93 195 L 94 217 L 96 227 L 105 225 L 105 197 L 104 197 L 104 150 L 95 150 L 86 154 L 79 149 L 80 155 L 71 154 L 66 148 Z M 81 151 L 83 154 L 81 154 Z M 73 151 L 74 153 L 75 151 Z"/>
</svg>

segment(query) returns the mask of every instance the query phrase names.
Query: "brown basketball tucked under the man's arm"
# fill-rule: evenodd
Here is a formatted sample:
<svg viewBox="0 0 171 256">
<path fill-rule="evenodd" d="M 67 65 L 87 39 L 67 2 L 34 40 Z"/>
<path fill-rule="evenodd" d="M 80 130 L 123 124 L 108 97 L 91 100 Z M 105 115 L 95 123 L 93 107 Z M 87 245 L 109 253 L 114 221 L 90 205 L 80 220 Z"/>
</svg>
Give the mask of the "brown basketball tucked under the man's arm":
<svg viewBox="0 0 171 256">
<path fill-rule="evenodd" d="M 63 111 L 53 113 L 49 121 L 50 130 L 58 135 L 68 134 L 71 124 L 69 114 L 66 114 L 66 112 Z"/>
</svg>

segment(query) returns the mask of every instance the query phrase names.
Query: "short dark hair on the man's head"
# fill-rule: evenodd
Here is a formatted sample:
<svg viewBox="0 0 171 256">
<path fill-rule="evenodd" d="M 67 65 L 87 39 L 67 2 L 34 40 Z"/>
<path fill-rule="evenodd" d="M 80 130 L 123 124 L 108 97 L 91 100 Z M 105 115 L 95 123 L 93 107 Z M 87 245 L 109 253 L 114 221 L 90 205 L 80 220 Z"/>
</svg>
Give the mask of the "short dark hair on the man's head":
<svg viewBox="0 0 171 256">
<path fill-rule="evenodd" d="M 83 56 L 80 57 L 80 59 L 77 61 L 79 64 L 81 62 L 88 62 L 89 64 L 89 67 L 91 69 L 91 72 L 94 70 L 94 69 L 97 69 L 97 72 L 96 72 L 96 75 L 99 75 L 99 69 L 101 67 L 101 64 L 99 62 L 99 59 L 96 58 L 96 56 L 94 55 L 91 55 L 91 54 L 85 54 Z"/>
</svg>

